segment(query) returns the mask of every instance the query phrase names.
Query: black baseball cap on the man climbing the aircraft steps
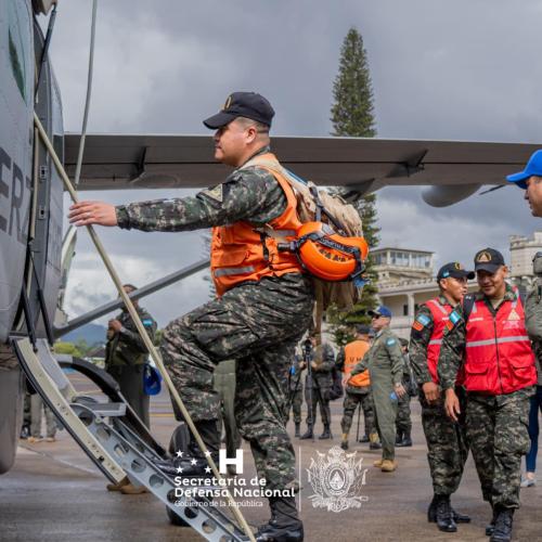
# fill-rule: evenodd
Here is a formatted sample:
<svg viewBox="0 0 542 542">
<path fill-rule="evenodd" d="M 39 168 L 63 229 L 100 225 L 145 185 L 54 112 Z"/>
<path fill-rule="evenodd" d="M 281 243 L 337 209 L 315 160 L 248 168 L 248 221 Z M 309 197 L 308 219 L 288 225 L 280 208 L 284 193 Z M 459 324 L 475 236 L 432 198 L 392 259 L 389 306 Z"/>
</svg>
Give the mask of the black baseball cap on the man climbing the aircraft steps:
<svg viewBox="0 0 542 542">
<path fill-rule="evenodd" d="M 269 101 L 257 92 L 233 92 L 225 99 L 220 113 L 206 118 L 204 125 L 211 130 L 216 130 L 237 117 L 251 118 L 271 127 L 274 109 Z"/>
</svg>

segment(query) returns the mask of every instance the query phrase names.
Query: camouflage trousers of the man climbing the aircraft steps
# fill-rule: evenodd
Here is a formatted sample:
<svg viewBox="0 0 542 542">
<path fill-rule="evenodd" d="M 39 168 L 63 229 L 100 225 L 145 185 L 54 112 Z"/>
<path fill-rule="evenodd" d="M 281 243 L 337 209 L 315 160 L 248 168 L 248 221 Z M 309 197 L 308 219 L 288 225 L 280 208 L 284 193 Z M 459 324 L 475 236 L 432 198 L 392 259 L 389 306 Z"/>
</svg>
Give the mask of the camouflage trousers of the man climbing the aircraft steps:
<svg viewBox="0 0 542 542">
<path fill-rule="evenodd" d="M 237 429 L 250 443 L 258 476 L 270 489 L 295 481 L 294 448 L 284 426 L 287 378 L 312 305 L 309 279 L 262 279 L 228 291 L 164 331 L 164 362 L 196 425 L 219 418 L 215 366 L 227 359 L 237 361 Z"/>
</svg>

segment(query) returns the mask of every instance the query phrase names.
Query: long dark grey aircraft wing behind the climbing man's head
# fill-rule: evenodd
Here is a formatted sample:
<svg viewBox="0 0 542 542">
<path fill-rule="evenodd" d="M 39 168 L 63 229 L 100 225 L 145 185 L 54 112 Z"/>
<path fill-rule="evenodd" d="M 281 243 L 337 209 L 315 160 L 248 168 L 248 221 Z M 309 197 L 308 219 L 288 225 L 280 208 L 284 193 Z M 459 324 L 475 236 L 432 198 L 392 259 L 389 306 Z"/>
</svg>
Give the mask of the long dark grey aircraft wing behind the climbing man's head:
<svg viewBox="0 0 542 542">
<path fill-rule="evenodd" d="M 65 138 L 70 177 L 80 137 Z M 320 185 L 365 194 L 388 185 L 440 188 L 443 205 L 482 184 L 504 184 L 540 147 L 524 143 L 273 137 L 281 163 Z M 214 158 L 209 136 L 87 136 L 79 190 L 205 188 L 229 169 Z M 439 205 L 436 201 L 428 202 Z M 442 197 L 440 197 L 442 199 Z M 426 199 L 427 201 L 427 199 Z M 442 204 L 442 202 L 441 202 Z"/>
</svg>

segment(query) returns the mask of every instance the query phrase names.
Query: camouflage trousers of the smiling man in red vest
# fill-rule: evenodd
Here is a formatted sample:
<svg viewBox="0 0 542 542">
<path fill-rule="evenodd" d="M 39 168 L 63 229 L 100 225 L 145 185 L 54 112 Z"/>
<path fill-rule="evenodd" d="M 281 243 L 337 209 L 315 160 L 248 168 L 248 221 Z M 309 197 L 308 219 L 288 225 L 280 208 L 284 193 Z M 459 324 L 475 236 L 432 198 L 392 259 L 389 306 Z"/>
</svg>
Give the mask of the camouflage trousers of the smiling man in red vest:
<svg viewBox="0 0 542 542">
<path fill-rule="evenodd" d="M 466 430 L 483 500 L 519 507 L 521 455 L 530 448 L 529 390 L 503 396 L 469 393 Z"/>
</svg>

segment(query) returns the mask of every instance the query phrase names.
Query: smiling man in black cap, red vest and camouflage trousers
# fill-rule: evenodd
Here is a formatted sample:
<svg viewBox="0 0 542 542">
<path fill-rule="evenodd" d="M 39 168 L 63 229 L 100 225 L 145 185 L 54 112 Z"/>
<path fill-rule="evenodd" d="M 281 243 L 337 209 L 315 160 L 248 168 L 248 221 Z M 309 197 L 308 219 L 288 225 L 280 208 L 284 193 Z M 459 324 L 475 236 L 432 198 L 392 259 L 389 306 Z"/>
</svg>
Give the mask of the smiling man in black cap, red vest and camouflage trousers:
<svg viewBox="0 0 542 542">
<path fill-rule="evenodd" d="M 526 337 L 522 306 L 506 282 L 501 253 L 475 256 L 480 291 L 465 296 L 451 313 L 438 361 L 444 409 L 454 421 L 463 412 L 454 391 L 460 369 L 467 390 L 466 433 L 483 500 L 493 509 L 486 533 L 491 542 L 512 539 L 519 507 L 521 455 L 529 451 L 529 398 L 537 382 L 534 357 Z M 474 315 L 473 315 L 474 314 Z"/>
</svg>

